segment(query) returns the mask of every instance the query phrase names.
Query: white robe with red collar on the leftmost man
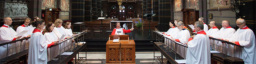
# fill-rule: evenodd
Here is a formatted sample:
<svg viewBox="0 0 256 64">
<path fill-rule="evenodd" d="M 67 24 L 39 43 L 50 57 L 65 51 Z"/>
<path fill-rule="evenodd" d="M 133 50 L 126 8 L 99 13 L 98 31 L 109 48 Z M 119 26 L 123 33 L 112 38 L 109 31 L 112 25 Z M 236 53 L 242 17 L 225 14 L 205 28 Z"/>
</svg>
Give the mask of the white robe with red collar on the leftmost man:
<svg viewBox="0 0 256 64">
<path fill-rule="evenodd" d="M 13 30 L 12 27 L 4 24 L 2 27 L 0 27 L 0 44 L 16 40 L 15 35 L 17 35 L 15 30 Z M 8 44 L 7 53 L 7 44 L 4 46 L 0 46 L 0 59 L 5 58 L 6 54 L 8 54 L 8 56 L 15 54 L 15 47 L 16 43 Z"/>
</svg>

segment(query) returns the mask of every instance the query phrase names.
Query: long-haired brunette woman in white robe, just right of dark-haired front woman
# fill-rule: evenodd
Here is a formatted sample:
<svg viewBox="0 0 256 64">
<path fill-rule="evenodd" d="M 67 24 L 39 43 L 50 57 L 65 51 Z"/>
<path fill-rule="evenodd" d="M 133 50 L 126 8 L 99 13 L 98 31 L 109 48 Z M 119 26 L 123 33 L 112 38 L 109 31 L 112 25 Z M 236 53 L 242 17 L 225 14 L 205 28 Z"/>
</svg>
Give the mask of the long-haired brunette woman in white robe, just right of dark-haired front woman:
<svg viewBox="0 0 256 64">
<path fill-rule="evenodd" d="M 54 29 L 54 24 L 52 22 L 49 22 L 46 24 L 45 27 L 46 29 L 44 29 L 43 34 L 46 38 L 47 43 L 50 44 L 54 41 L 58 41 L 58 37 L 52 32 L 52 30 Z M 47 58 L 48 61 L 50 61 L 52 58 L 59 55 L 59 46 L 54 46 L 47 51 Z"/>
</svg>

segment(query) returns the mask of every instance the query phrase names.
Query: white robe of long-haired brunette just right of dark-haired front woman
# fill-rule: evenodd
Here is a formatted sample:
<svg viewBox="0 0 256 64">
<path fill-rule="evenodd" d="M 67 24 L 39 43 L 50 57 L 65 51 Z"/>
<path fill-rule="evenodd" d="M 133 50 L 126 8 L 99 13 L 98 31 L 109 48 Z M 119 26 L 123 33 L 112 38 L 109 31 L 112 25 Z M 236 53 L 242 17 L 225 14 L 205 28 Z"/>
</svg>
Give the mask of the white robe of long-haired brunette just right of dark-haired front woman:
<svg viewBox="0 0 256 64">
<path fill-rule="evenodd" d="M 46 38 L 47 44 L 51 44 L 54 41 L 58 41 L 58 37 L 53 32 L 44 33 L 44 37 Z M 48 48 L 47 51 L 47 58 L 48 61 L 50 61 L 51 59 L 59 55 L 59 45 Z"/>
</svg>

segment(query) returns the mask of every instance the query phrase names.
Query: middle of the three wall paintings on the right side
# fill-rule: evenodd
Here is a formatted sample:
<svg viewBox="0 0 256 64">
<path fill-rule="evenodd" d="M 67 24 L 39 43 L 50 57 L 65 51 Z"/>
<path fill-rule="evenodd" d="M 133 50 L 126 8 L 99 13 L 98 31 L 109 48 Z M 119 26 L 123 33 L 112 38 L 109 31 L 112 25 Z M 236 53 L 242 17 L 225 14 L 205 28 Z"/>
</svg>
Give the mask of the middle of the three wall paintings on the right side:
<svg viewBox="0 0 256 64">
<path fill-rule="evenodd" d="M 199 9 L 198 0 L 187 0 L 187 8 Z"/>
</svg>

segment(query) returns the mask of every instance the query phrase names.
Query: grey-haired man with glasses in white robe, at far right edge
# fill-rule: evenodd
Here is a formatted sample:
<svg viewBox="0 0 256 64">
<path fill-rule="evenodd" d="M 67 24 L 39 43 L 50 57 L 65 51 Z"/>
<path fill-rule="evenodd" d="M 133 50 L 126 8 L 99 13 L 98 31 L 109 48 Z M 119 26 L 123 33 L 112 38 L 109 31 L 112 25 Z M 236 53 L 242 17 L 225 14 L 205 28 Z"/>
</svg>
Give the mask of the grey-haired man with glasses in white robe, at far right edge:
<svg viewBox="0 0 256 64">
<path fill-rule="evenodd" d="M 242 18 L 236 20 L 236 26 L 239 29 L 236 30 L 235 34 L 231 38 L 227 38 L 231 43 L 244 46 L 235 47 L 235 56 L 244 60 L 244 64 L 256 64 L 256 47 L 255 47 L 255 36 L 251 29 L 246 26 L 246 21 Z"/>
</svg>

